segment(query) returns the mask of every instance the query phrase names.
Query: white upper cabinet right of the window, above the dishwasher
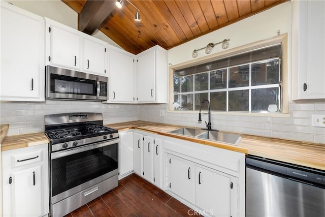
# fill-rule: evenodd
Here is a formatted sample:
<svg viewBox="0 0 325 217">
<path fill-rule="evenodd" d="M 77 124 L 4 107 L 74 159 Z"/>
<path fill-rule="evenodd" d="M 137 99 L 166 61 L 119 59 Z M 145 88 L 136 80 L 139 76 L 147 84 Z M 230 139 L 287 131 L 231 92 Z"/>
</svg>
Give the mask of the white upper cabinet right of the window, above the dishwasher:
<svg viewBox="0 0 325 217">
<path fill-rule="evenodd" d="M 292 99 L 325 99 L 325 1 L 293 1 Z"/>
</svg>

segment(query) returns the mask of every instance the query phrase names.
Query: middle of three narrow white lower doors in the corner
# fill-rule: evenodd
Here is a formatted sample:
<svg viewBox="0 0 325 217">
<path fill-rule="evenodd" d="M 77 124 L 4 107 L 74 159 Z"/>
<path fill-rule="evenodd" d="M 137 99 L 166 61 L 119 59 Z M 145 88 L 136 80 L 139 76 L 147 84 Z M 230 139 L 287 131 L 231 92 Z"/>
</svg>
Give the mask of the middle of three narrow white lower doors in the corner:
<svg viewBox="0 0 325 217">
<path fill-rule="evenodd" d="M 143 140 L 143 178 L 152 182 L 153 175 L 153 137 L 144 136 Z"/>
</svg>

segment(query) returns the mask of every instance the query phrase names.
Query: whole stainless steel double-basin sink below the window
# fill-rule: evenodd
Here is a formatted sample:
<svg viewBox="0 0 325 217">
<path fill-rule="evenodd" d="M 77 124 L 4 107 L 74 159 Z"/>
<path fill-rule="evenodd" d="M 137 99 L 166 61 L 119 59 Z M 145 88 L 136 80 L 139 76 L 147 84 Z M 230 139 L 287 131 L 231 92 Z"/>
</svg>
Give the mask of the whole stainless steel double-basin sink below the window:
<svg viewBox="0 0 325 217">
<path fill-rule="evenodd" d="M 196 137 L 200 139 L 206 139 L 210 141 L 216 141 L 231 145 L 238 145 L 238 142 L 242 138 L 240 134 L 220 132 L 220 131 L 208 131 L 198 128 L 180 128 L 169 133 L 174 133 L 183 136 Z"/>
</svg>

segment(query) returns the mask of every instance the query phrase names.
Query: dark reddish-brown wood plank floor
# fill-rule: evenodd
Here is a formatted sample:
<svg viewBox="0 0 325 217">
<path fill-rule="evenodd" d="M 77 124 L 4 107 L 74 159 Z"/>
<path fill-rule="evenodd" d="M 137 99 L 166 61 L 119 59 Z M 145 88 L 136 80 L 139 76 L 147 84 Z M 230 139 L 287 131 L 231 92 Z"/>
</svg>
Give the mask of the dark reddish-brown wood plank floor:
<svg viewBox="0 0 325 217">
<path fill-rule="evenodd" d="M 193 211 L 136 174 L 121 180 L 112 191 L 66 215 L 86 216 L 189 216 Z M 198 213 L 196 213 L 196 216 Z"/>
</svg>

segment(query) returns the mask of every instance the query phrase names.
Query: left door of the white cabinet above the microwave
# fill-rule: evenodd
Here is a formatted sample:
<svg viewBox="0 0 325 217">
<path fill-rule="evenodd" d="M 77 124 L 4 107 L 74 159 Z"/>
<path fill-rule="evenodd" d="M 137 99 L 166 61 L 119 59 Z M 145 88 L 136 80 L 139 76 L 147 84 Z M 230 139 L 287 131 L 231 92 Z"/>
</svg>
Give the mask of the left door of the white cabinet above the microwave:
<svg viewBox="0 0 325 217">
<path fill-rule="evenodd" d="M 80 69 L 80 36 L 66 28 L 50 25 L 50 63 Z"/>
</svg>

